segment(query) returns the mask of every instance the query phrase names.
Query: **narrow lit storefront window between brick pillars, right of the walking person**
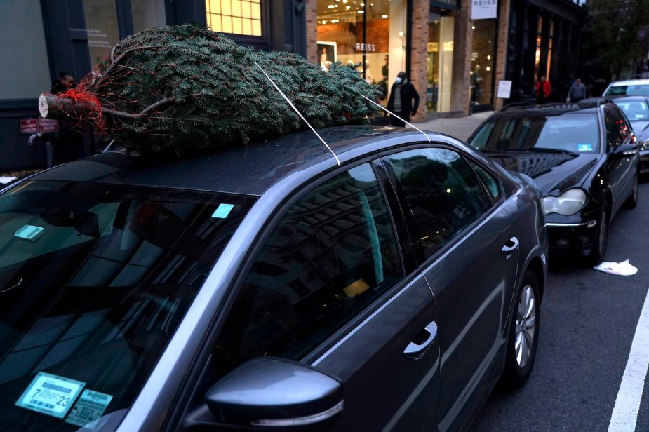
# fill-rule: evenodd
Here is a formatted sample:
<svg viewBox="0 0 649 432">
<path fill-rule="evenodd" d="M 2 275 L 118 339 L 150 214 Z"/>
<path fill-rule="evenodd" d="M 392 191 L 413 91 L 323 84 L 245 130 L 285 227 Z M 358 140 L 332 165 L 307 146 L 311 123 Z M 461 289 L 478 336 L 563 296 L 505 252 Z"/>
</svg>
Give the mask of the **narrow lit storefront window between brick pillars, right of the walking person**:
<svg viewBox="0 0 649 432">
<path fill-rule="evenodd" d="M 432 13 L 430 16 L 426 106 L 432 112 L 449 112 L 453 82 L 455 18 Z"/>
</svg>

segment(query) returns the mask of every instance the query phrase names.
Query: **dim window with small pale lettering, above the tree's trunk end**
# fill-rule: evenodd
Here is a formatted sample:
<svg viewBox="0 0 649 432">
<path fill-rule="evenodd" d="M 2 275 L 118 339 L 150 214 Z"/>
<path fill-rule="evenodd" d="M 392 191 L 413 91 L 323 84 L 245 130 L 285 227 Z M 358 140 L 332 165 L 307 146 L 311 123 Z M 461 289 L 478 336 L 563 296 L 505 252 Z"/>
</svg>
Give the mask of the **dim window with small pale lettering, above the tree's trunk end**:
<svg viewBox="0 0 649 432">
<path fill-rule="evenodd" d="M 83 0 L 83 13 L 86 16 L 90 62 L 96 65 L 119 42 L 115 0 Z"/>
</svg>

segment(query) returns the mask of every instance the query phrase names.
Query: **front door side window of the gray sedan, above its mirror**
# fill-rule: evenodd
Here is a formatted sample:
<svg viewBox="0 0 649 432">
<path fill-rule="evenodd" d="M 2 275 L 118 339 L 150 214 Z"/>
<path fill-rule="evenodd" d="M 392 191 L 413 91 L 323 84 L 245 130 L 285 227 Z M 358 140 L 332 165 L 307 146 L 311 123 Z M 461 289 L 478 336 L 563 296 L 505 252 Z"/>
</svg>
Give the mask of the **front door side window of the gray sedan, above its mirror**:
<svg viewBox="0 0 649 432">
<path fill-rule="evenodd" d="M 299 359 L 401 277 L 392 222 L 371 166 L 333 177 L 264 242 L 215 346 L 221 373 L 257 356 Z"/>
</svg>

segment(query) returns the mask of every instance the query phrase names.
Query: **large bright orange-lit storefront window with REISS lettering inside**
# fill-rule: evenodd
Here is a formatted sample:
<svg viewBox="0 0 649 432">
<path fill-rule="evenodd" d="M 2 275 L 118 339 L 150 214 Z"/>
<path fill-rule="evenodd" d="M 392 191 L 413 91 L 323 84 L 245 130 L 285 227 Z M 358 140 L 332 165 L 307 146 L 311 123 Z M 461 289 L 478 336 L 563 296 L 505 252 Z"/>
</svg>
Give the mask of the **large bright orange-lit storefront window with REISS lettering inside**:
<svg viewBox="0 0 649 432">
<path fill-rule="evenodd" d="M 406 70 L 406 3 L 318 0 L 319 65 L 327 70 L 335 61 L 360 63 L 368 83 L 384 83 L 389 89 L 396 74 Z"/>
</svg>

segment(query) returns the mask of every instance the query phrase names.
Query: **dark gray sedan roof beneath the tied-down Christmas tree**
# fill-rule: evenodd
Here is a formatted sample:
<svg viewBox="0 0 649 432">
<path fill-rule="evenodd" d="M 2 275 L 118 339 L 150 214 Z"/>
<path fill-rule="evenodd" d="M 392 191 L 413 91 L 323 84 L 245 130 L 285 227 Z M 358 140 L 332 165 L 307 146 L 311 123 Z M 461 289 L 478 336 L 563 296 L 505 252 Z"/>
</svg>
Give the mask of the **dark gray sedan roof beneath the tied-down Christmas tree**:
<svg viewBox="0 0 649 432">
<path fill-rule="evenodd" d="M 427 141 L 416 130 L 386 126 L 335 126 L 318 132 L 341 161 L 392 145 L 416 142 L 417 137 Z M 281 177 L 322 161 L 335 166 L 335 159 L 319 137 L 305 130 L 173 158 L 133 157 L 125 151 L 110 151 L 41 171 L 29 180 L 100 182 L 258 196 Z"/>
</svg>

